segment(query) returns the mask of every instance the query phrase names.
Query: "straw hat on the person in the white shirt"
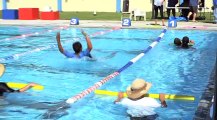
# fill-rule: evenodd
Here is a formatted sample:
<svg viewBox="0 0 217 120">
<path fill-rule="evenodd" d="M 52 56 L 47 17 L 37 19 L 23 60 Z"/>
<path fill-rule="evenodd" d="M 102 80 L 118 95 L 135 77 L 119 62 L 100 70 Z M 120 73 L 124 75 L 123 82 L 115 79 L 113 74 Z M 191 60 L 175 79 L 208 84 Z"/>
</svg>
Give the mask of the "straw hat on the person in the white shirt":
<svg viewBox="0 0 217 120">
<path fill-rule="evenodd" d="M 138 99 L 145 95 L 150 88 L 151 83 L 148 83 L 143 79 L 135 79 L 127 88 L 126 94 L 130 99 Z"/>
</svg>

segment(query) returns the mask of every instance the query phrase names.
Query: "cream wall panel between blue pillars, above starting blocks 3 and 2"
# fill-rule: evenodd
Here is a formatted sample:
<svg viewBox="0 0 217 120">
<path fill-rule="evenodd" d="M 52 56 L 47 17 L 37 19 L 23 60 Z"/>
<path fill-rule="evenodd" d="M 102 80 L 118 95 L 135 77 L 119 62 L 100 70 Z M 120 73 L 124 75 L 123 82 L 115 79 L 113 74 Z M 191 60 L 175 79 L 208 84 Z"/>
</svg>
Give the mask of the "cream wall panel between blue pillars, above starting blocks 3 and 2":
<svg viewBox="0 0 217 120">
<path fill-rule="evenodd" d="M 116 12 L 116 0 L 63 0 L 63 11 Z"/>
</svg>

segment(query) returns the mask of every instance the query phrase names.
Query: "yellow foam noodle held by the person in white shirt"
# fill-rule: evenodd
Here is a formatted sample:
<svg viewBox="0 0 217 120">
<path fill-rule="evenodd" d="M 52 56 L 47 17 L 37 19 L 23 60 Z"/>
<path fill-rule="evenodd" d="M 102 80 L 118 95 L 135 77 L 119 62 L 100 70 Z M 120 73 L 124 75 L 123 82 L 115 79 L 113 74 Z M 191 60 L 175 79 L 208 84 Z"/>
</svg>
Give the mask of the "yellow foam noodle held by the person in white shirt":
<svg viewBox="0 0 217 120">
<path fill-rule="evenodd" d="M 117 96 L 118 92 L 114 91 L 108 91 L 108 90 L 95 90 L 95 94 L 98 95 L 108 95 L 108 96 Z M 124 97 L 127 97 L 126 93 L 124 93 Z M 151 98 L 159 98 L 159 94 L 146 94 L 145 97 L 151 97 Z M 189 96 L 189 95 L 176 95 L 176 94 L 165 94 L 166 99 L 171 99 L 171 100 L 188 100 L 188 101 L 194 101 L 195 98 L 194 96 Z"/>
</svg>

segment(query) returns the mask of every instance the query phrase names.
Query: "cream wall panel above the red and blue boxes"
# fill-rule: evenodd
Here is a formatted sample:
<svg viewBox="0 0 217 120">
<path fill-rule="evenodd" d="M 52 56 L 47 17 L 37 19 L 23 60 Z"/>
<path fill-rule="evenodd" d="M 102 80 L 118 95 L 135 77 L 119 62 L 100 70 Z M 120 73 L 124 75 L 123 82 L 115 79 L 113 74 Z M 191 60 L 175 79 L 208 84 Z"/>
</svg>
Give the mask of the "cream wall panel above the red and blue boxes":
<svg viewBox="0 0 217 120">
<path fill-rule="evenodd" d="M 8 9 L 39 8 L 43 11 L 47 6 L 57 11 L 57 0 L 9 0 L 7 2 Z"/>
</svg>

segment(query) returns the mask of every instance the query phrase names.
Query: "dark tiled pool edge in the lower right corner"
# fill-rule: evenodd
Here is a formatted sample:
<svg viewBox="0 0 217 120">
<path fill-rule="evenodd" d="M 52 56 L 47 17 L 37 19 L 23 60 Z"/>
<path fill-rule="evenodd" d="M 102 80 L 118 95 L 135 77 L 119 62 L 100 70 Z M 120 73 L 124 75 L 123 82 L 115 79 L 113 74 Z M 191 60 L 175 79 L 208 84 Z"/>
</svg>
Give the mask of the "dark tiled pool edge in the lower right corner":
<svg viewBox="0 0 217 120">
<path fill-rule="evenodd" d="M 217 59 L 216 59 L 217 63 Z M 204 93 L 200 99 L 200 102 L 198 104 L 197 110 L 195 111 L 195 116 L 194 120 L 211 120 L 210 119 L 210 107 L 212 103 L 212 97 L 214 95 L 214 90 L 215 90 L 215 80 L 217 77 L 216 74 L 216 67 L 215 65 L 209 79 L 209 83 L 204 90 Z"/>
</svg>

